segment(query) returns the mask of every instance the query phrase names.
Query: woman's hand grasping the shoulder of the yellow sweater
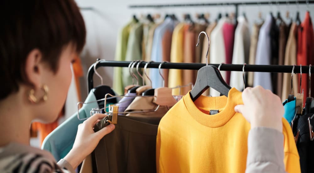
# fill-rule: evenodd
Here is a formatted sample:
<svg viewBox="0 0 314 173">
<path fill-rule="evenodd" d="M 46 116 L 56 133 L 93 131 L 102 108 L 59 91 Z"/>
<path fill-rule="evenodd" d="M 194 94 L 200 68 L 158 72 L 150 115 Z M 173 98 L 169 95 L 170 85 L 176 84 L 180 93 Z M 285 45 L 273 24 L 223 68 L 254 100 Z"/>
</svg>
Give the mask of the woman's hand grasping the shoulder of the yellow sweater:
<svg viewBox="0 0 314 173">
<path fill-rule="evenodd" d="M 284 107 L 280 98 L 261 86 L 247 87 L 242 92 L 243 105 L 237 105 L 235 111 L 241 113 L 254 127 L 268 127 L 282 132 Z"/>
</svg>

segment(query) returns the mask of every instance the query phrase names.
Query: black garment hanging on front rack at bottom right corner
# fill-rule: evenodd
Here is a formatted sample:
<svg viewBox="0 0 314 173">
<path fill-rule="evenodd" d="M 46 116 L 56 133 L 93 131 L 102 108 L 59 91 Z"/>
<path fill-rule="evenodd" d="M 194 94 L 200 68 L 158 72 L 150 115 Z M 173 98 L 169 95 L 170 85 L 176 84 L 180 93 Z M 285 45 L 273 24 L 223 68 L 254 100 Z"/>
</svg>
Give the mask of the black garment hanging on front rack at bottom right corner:
<svg viewBox="0 0 314 173">
<path fill-rule="evenodd" d="M 314 172 L 314 141 L 310 140 L 310 131 L 308 125 L 308 118 L 313 114 L 306 114 L 300 116 L 297 120 L 295 132 L 300 130 L 299 138 L 296 143 L 299 156 L 301 173 L 313 173 Z M 311 125 L 314 125 L 314 118 L 311 121 Z M 295 126 L 295 125 L 294 125 Z M 294 133 L 296 135 L 296 133 Z"/>
</svg>

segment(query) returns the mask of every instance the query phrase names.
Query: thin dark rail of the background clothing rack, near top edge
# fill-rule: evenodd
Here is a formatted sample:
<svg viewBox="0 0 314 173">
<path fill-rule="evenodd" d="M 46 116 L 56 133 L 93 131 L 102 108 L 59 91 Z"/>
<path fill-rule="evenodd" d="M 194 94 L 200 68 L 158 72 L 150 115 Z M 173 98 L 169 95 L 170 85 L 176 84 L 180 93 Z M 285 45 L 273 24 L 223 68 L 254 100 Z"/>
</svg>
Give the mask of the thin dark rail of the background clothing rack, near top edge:
<svg viewBox="0 0 314 173">
<path fill-rule="evenodd" d="M 313 4 L 314 1 L 262 1 L 262 2 L 230 2 L 230 3 L 185 3 L 185 4 L 154 4 L 129 5 L 129 8 L 169 8 L 169 7 L 199 7 L 199 6 L 235 6 L 235 15 L 238 17 L 239 5 L 282 5 L 282 4 Z"/>
</svg>

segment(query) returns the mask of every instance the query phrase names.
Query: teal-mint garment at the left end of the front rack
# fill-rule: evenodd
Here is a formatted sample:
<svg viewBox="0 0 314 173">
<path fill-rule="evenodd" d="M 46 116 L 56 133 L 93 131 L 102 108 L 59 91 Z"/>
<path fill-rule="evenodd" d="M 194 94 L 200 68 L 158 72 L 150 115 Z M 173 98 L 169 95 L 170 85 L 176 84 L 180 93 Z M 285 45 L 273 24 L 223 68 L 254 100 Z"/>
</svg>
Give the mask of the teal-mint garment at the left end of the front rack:
<svg viewBox="0 0 314 173">
<path fill-rule="evenodd" d="M 96 101 L 96 97 L 94 95 L 94 90 L 91 90 L 85 103 L 93 101 Z M 109 103 L 107 106 L 108 105 Z M 82 108 L 78 111 L 80 119 L 90 117 L 92 108 L 98 108 L 97 102 L 83 104 Z M 78 131 L 78 125 L 83 122 L 84 120 L 78 120 L 77 113 L 73 114 L 45 138 L 41 149 L 49 151 L 56 161 L 63 159 L 72 149 Z"/>
</svg>

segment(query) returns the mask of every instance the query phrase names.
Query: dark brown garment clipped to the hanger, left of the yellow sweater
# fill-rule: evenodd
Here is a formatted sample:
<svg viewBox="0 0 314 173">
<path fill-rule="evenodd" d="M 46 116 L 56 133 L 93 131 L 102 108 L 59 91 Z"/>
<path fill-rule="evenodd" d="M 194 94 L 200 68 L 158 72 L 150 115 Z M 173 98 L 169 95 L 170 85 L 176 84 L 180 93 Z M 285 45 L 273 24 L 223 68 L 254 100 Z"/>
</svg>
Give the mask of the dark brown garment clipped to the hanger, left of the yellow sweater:
<svg viewBox="0 0 314 173">
<path fill-rule="evenodd" d="M 156 172 L 156 136 L 160 119 L 119 115 L 115 130 L 100 140 L 92 154 L 93 172 Z M 94 130 L 107 126 L 106 120 L 107 117 L 98 122 Z"/>
</svg>

